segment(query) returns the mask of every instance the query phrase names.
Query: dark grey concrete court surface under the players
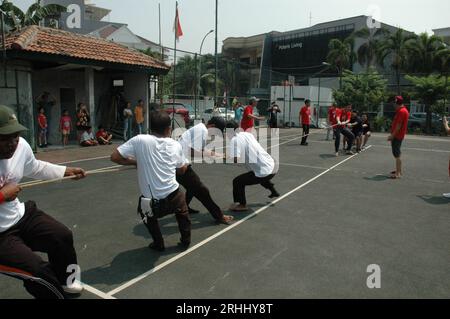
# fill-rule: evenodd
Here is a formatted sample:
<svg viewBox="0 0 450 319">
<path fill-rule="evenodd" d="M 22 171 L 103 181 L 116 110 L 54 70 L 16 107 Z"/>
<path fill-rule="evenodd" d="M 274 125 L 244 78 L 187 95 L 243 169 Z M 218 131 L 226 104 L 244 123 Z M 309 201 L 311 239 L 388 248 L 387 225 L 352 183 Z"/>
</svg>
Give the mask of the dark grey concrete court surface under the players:
<svg viewBox="0 0 450 319">
<path fill-rule="evenodd" d="M 449 139 L 409 136 L 401 180 L 386 177 L 393 158 L 376 134 L 359 155 L 335 157 L 314 131 L 299 145 L 298 129 L 280 131 L 282 197 L 271 203 L 261 186 L 247 188 L 252 211 L 232 226 L 216 225 L 194 200 L 193 243 L 179 239 L 173 216 L 160 221 L 162 254 L 136 214 L 135 171 L 93 175 L 24 190 L 22 201 L 70 227 L 88 285 L 79 298 L 449 298 Z M 297 138 L 297 139 L 296 139 Z M 112 147 L 48 152 L 38 157 L 87 170 L 110 167 Z M 89 160 L 89 158 L 94 158 Z M 81 161 L 80 161 L 81 160 Z M 232 202 L 242 165 L 196 164 L 221 207 Z M 368 265 L 381 269 L 381 288 L 366 285 Z M 0 277 L 0 298 L 30 298 L 18 280 Z"/>
</svg>

